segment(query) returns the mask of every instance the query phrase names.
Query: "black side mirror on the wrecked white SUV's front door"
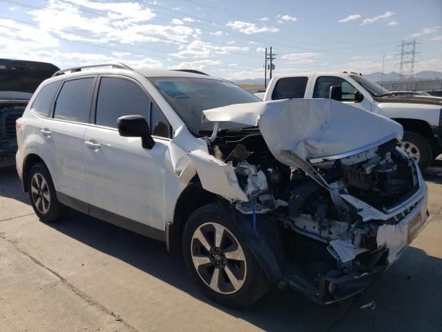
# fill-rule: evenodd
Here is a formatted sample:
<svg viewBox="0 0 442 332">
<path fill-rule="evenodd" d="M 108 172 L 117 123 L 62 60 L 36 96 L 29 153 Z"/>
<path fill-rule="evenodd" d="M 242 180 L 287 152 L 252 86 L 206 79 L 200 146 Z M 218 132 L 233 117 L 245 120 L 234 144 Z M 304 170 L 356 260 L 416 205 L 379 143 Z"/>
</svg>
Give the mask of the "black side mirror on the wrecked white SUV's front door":
<svg viewBox="0 0 442 332">
<path fill-rule="evenodd" d="M 152 149 L 155 140 L 151 136 L 151 129 L 143 116 L 122 116 L 117 120 L 119 136 L 141 137 L 144 149 Z"/>
</svg>

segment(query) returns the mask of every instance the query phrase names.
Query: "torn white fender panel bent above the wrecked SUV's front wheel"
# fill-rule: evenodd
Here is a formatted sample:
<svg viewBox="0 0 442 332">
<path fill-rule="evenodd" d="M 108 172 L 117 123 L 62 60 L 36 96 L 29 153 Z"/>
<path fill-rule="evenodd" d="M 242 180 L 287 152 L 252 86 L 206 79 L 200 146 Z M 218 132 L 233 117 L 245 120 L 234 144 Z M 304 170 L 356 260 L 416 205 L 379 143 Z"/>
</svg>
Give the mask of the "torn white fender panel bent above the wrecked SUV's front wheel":
<svg viewBox="0 0 442 332">
<path fill-rule="evenodd" d="M 189 152 L 189 157 L 205 190 L 219 194 L 230 201 L 249 201 L 238 184 L 231 163 L 223 163 L 202 150 Z"/>
</svg>

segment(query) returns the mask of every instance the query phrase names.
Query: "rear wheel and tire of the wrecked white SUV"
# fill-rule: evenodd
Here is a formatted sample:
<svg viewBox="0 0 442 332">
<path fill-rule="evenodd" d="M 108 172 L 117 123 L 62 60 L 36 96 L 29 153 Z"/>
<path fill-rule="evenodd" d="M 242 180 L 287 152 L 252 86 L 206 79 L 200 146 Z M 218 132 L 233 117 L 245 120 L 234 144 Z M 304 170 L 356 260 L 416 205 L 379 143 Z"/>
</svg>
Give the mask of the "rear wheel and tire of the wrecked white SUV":
<svg viewBox="0 0 442 332">
<path fill-rule="evenodd" d="M 57 200 L 54 183 L 44 163 L 37 163 L 31 167 L 28 174 L 28 192 L 35 214 L 45 223 L 58 221 L 69 210 Z"/>
</svg>

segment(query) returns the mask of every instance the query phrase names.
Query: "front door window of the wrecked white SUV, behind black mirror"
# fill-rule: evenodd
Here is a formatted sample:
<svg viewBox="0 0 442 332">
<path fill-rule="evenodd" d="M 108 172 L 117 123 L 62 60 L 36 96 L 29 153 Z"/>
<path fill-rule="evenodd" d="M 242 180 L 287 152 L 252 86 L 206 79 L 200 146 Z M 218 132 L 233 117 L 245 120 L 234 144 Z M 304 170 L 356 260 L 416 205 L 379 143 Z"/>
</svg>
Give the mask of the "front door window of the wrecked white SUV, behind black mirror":
<svg viewBox="0 0 442 332">
<path fill-rule="evenodd" d="M 95 124 L 117 128 L 120 116 L 140 115 L 148 120 L 151 100 L 135 82 L 118 77 L 102 77 L 97 95 Z"/>
</svg>

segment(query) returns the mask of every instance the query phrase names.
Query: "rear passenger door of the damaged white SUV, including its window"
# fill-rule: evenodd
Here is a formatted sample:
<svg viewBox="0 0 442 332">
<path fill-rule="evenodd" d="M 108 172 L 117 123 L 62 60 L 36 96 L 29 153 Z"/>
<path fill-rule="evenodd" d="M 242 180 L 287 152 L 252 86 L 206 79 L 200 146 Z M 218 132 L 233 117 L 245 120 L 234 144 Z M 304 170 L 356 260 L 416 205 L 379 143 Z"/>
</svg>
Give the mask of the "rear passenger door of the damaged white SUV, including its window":
<svg viewBox="0 0 442 332">
<path fill-rule="evenodd" d="M 65 80 L 52 114 L 39 121 L 38 153 L 48 165 L 55 190 L 81 201 L 86 201 L 83 136 L 90 118 L 94 82 L 94 76 Z"/>
</svg>

